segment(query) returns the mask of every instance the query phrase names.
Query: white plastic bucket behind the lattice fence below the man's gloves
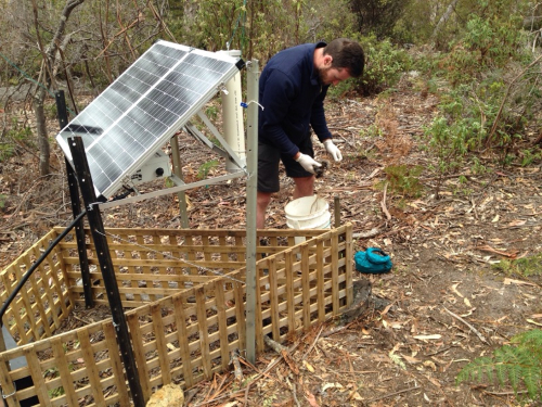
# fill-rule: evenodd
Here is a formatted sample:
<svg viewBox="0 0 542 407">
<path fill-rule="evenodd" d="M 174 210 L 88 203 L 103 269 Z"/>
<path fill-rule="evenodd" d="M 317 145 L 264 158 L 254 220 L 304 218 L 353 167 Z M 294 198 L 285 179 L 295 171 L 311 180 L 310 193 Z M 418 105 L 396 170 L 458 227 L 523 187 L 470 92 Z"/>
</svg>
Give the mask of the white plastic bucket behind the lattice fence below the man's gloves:
<svg viewBox="0 0 542 407">
<path fill-rule="evenodd" d="M 304 196 L 289 202 L 284 208 L 286 225 L 291 229 L 328 229 L 331 227 L 330 205 L 318 196 Z M 304 237 L 296 237 L 296 244 L 304 242 Z"/>
</svg>

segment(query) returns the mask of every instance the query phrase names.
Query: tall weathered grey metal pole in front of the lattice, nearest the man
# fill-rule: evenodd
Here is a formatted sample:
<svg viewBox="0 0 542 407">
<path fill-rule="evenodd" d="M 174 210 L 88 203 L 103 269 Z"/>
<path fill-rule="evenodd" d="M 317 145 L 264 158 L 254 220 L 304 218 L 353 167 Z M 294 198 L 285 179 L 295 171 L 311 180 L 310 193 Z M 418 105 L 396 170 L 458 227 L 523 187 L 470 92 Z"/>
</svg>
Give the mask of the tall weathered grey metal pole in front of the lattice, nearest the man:
<svg viewBox="0 0 542 407">
<path fill-rule="evenodd" d="M 247 64 L 247 171 L 246 185 L 246 357 L 256 361 L 256 191 L 258 187 L 258 80 L 259 64 Z"/>
</svg>

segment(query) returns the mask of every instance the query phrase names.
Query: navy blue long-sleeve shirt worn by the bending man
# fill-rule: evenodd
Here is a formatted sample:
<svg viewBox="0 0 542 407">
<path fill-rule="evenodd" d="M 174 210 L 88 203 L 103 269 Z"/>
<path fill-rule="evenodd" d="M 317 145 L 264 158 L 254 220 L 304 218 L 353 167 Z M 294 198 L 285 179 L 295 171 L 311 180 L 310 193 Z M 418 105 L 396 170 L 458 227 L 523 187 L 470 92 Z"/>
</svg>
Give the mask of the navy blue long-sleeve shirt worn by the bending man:
<svg viewBox="0 0 542 407">
<path fill-rule="evenodd" d="M 305 43 L 276 53 L 259 79 L 258 137 L 294 156 L 309 137 L 310 127 L 320 141 L 332 138 L 324 115 L 328 86 L 322 86 L 314 68 L 314 50 L 325 42 Z"/>
</svg>

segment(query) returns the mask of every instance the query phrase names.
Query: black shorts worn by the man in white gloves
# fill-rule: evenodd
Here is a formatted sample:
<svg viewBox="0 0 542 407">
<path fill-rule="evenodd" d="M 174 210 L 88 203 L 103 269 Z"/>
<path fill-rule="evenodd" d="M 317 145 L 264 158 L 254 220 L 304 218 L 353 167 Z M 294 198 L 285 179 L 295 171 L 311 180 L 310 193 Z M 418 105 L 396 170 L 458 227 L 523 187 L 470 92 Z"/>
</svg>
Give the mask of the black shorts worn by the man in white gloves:
<svg viewBox="0 0 542 407">
<path fill-rule="evenodd" d="M 308 137 L 301 145 L 298 145 L 302 154 L 314 157 L 312 140 Z M 284 164 L 286 175 L 291 178 L 310 177 L 312 174 L 307 171 L 301 164 L 296 162 L 287 154 L 281 154 L 281 151 L 274 145 L 258 143 L 258 191 L 279 192 L 281 183 L 279 179 L 279 162 Z"/>
</svg>

